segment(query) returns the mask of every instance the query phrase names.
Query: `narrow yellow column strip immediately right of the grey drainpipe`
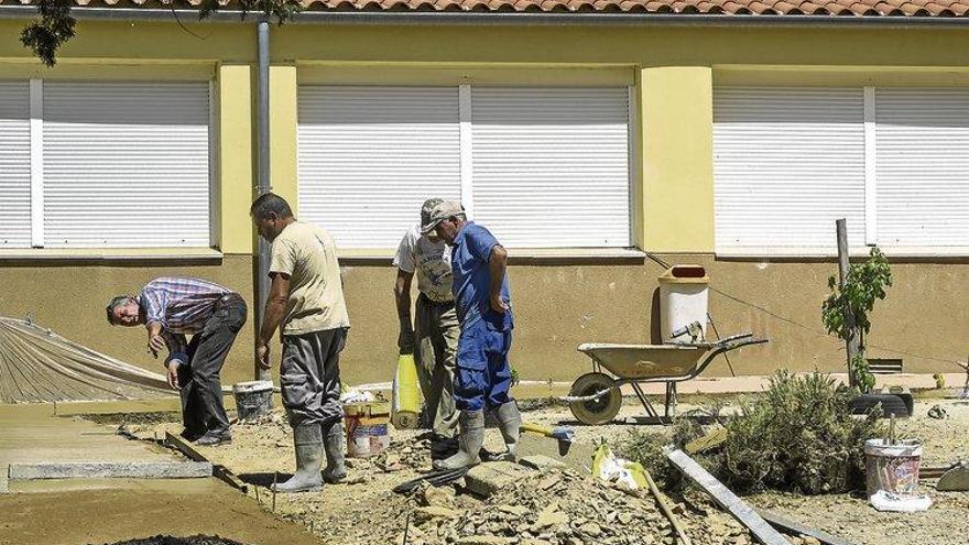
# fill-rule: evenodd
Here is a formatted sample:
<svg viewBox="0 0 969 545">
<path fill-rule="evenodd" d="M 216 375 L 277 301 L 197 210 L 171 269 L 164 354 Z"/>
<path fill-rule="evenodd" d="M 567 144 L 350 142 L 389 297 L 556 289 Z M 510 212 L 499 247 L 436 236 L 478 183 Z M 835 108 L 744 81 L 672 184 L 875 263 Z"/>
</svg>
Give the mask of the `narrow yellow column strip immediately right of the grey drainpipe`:
<svg viewBox="0 0 969 545">
<path fill-rule="evenodd" d="M 296 66 L 269 68 L 270 183 L 298 217 L 296 200 Z"/>
</svg>

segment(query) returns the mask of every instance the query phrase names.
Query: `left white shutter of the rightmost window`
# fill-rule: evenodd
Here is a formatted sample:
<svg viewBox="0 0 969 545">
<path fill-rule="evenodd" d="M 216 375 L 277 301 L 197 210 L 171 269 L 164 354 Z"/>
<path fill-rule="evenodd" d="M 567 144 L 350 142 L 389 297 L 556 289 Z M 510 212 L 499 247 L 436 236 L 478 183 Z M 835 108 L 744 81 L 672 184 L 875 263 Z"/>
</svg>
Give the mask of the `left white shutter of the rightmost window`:
<svg viewBox="0 0 969 545">
<path fill-rule="evenodd" d="M 835 220 L 864 246 L 861 88 L 714 90 L 716 248 L 830 254 Z"/>
</svg>

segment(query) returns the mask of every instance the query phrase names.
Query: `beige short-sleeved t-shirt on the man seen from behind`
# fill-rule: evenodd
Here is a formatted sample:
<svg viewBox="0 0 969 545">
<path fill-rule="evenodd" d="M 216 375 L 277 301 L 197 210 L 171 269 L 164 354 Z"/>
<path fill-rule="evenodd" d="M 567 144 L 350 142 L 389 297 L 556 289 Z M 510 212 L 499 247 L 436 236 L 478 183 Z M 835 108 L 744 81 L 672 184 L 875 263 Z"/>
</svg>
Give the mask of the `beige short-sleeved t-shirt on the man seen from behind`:
<svg viewBox="0 0 969 545">
<path fill-rule="evenodd" d="M 295 221 L 272 243 L 271 273 L 290 276 L 283 335 L 350 327 L 337 248 L 325 230 Z"/>
</svg>

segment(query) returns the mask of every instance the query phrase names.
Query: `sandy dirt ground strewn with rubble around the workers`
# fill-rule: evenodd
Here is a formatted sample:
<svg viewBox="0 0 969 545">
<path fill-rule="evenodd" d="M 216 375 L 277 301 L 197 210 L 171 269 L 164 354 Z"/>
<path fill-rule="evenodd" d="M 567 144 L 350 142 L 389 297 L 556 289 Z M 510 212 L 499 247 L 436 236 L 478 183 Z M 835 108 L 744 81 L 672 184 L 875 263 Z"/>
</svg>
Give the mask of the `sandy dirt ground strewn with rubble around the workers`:
<svg viewBox="0 0 969 545">
<path fill-rule="evenodd" d="M 707 400 L 694 397 L 689 404 L 681 405 L 679 410 L 687 411 L 706 403 Z M 926 415 L 928 408 L 935 404 L 945 408 L 948 418 L 934 419 Z M 634 406 L 633 402 L 627 400 L 620 417 L 631 417 L 642 415 L 642 413 L 641 407 Z M 969 434 L 969 403 L 957 400 L 921 400 L 916 403 L 915 413 L 914 417 L 900 421 L 899 429 L 902 436 L 918 438 L 923 442 L 925 447 L 923 465 L 940 465 L 969 457 L 969 443 L 966 440 L 966 437 L 969 436 L 967 435 Z M 630 429 L 643 429 L 642 425 L 635 424 L 577 425 L 568 410 L 562 406 L 540 406 L 525 411 L 524 418 L 529 422 L 574 427 L 576 444 L 565 461 L 571 466 L 569 471 L 575 471 L 576 475 L 587 475 L 591 464 L 588 456 L 598 442 L 614 442 L 621 439 Z M 108 424 L 110 419 L 105 422 L 105 425 L 117 426 L 116 423 Z M 174 422 L 141 422 L 130 424 L 128 427 L 141 436 L 163 435 L 165 430 L 178 430 L 178 425 Z M 647 429 L 662 433 L 660 426 L 647 426 Z M 555 442 L 536 436 L 526 435 L 522 446 L 525 449 L 524 454 L 554 455 L 556 451 Z M 500 449 L 500 435 L 497 430 L 490 429 L 488 432 L 486 448 Z M 237 425 L 233 429 L 231 445 L 199 448 L 199 450 L 215 464 L 224 465 L 247 482 L 255 483 L 257 487 L 250 487 L 249 497 L 253 502 L 258 501 L 264 511 L 272 511 L 284 520 L 302 524 L 327 544 L 373 543 L 385 545 L 402 543 L 405 528 L 409 532 L 409 543 L 414 544 L 475 543 L 458 542 L 458 539 L 469 539 L 473 535 L 481 535 L 482 532 L 490 532 L 489 535 L 498 539 L 489 543 L 530 543 L 522 539 L 519 533 L 511 531 L 515 527 L 513 519 L 516 515 L 508 514 L 507 516 L 502 515 L 503 517 L 494 517 L 490 514 L 502 510 L 510 513 L 514 511 L 511 509 L 514 505 L 481 501 L 472 495 L 461 493 L 460 489 L 457 490 L 457 494 L 449 494 L 446 501 L 448 509 L 460 513 L 460 516 L 445 521 L 435 519 L 422 523 L 416 514 L 420 513 L 418 508 L 427 505 L 427 500 L 420 493 L 406 497 L 391 491 L 394 486 L 413 479 L 429 469 L 428 442 L 418 432 L 392 430 L 391 449 L 386 455 L 366 460 L 349 460 L 349 483 L 325 487 L 320 492 L 279 494 L 275 498 L 274 510 L 269 486 L 274 478 L 282 480 L 288 477 L 288 473 L 294 469 L 292 435 L 279 412 L 275 413 L 273 419 L 259 425 Z M 566 481 L 568 480 L 566 479 Z M 556 494 L 558 498 L 595 494 L 599 489 L 581 488 L 589 484 L 589 481 L 590 479 L 576 480 L 571 484 L 574 490 L 567 487 L 552 488 L 549 489 L 552 493 L 545 497 L 525 494 L 529 495 L 527 499 L 504 497 L 502 501 L 510 504 L 519 502 L 535 512 L 541 511 L 544 503 L 555 502 L 556 509 L 567 512 L 566 514 L 570 519 L 564 533 L 558 532 L 553 535 L 535 531 L 534 535 L 527 534 L 525 536 L 534 538 L 535 541 L 531 542 L 534 544 L 598 544 L 606 543 L 607 537 L 617 539 L 614 543 L 672 543 L 672 528 L 664 525 L 665 519 L 657 514 L 655 502 L 650 498 L 624 499 L 621 495 L 610 495 L 612 499 L 605 503 L 590 500 L 592 508 L 587 509 L 584 517 L 578 517 L 574 512 L 568 511 L 571 508 L 566 505 L 567 502 L 556 498 Z M 748 501 L 858 545 L 889 545 L 890 543 L 906 542 L 933 545 L 967 543 L 965 526 L 966 513 L 969 510 L 969 493 L 937 492 L 934 490 L 933 483 L 932 480 L 925 481 L 923 489 L 926 494 L 933 498 L 934 505 L 927 512 L 915 514 L 879 513 L 861 495 L 850 494 L 805 498 L 770 492 L 750 497 Z M 533 487 L 529 484 L 520 488 L 531 489 Z M 454 489 L 449 488 L 449 490 Z M 630 526 L 639 527 L 641 530 L 639 534 L 630 532 L 629 535 L 625 535 L 620 532 L 619 535 L 611 535 L 603 531 L 602 534 L 597 534 L 597 537 L 581 530 L 594 526 L 600 530 L 616 526 L 619 524 L 616 516 L 622 514 L 623 509 L 629 510 L 629 513 L 640 513 L 644 516 L 642 520 L 634 520 Z M 687 532 L 694 543 L 742 545 L 753 541 L 736 521 L 709 503 L 678 504 L 676 509 L 685 521 Z M 522 514 L 516 527 L 519 530 L 529 528 L 529 524 L 534 526 L 532 521 L 537 514 L 535 512 Z M 611 519 L 609 519 L 610 516 Z M 440 530 L 435 534 L 434 532 L 428 533 L 428 527 L 448 530 Z M 447 532 L 451 532 L 451 534 Z M 511 537 L 501 537 L 508 535 Z M 794 543 L 802 542 L 795 539 Z"/>
</svg>

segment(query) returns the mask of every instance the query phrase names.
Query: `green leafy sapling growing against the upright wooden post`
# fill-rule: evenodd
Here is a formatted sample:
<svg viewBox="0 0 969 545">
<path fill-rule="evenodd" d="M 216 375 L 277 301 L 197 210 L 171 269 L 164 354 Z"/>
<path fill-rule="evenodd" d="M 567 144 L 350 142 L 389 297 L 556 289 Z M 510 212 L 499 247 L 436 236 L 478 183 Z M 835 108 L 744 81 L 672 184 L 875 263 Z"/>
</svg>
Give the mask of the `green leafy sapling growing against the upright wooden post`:
<svg viewBox="0 0 969 545">
<path fill-rule="evenodd" d="M 878 248 L 872 248 L 868 261 L 848 268 L 848 277 L 841 288 L 838 279 L 828 277 L 831 293 L 821 304 L 821 321 L 828 334 L 846 341 L 858 337 L 858 353 L 848 362 L 848 380 L 851 386 L 867 392 L 874 388 L 874 377 L 864 358 L 864 337 L 871 331 L 869 314 L 874 303 L 885 298 L 885 288 L 892 285 L 892 269 Z M 845 321 L 845 309 L 854 317 L 854 327 Z"/>
</svg>

